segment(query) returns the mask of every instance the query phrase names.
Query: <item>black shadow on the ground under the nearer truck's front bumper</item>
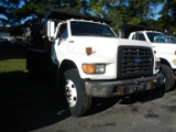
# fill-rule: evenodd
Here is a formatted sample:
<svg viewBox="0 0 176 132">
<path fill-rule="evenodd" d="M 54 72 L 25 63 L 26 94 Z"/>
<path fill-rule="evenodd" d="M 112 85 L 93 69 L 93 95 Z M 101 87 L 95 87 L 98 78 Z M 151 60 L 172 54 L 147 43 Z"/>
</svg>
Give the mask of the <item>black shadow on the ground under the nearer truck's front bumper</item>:
<svg viewBox="0 0 176 132">
<path fill-rule="evenodd" d="M 124 97 L 94 98 L 94 105 L 88 116 L 96 114 L 116 105 L 133 105 L 136 102 L 143 103 L 146 101 L 155 100 L 155 99 L 162 98 L 165 92 L 163 90 L 162 91 L 151 90 L 151 91 L 145 91 L 143 94 L 130 95 Z"/>
</svg>

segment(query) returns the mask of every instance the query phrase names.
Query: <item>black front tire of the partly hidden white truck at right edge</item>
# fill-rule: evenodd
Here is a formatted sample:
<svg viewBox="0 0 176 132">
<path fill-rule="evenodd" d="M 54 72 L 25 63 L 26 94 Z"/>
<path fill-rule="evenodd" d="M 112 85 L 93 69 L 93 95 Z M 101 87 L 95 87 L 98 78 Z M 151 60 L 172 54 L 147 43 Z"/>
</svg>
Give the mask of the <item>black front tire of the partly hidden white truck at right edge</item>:
<svg viewBox="0 0 176 132">
<path fill-rule="evenodd" d="M 165 76 L 165 91 L 169 91 L 175 86 L 175 75 L 170 67 L 165 64 L 161 64 L 161 72 Z"/>
</svg>

